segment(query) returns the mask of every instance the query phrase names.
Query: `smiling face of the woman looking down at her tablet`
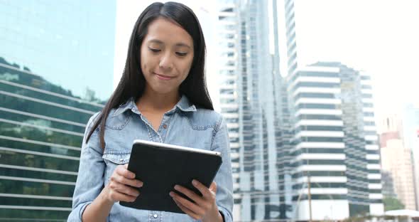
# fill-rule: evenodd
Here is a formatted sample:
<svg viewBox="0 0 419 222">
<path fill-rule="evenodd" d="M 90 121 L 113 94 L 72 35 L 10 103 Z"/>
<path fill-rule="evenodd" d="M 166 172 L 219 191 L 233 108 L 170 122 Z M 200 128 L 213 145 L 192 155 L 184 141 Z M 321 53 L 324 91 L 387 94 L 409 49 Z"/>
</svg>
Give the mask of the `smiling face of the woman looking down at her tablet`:
<svg viewBox="0 0 419 222">
<path fill-rule="evenodd" d="M 165 18 L 148 25 L 141 44 L 141 70 L 146 91 L 178 93 L 194 56 L 192 37 L 181 26 Z"/>
</svg>

